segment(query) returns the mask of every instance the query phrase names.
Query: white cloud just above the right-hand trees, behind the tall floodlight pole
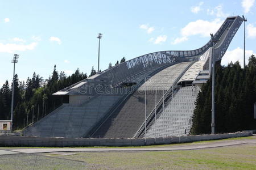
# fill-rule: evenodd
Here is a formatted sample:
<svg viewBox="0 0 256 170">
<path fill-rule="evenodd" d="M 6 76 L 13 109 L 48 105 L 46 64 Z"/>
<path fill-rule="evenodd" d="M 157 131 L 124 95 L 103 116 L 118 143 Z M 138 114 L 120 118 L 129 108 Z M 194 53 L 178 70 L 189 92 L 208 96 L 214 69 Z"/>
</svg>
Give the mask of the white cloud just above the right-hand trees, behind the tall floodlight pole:
<svg viewBox="0 0 256 170">
<path fill-rule="evenodd" d="M 253 52 L 253 50 L 245 50 L 245 63 L 248 63 L 248 59 L 251 56 L 251 54 L 255 53 Z M 228 63 L 230 62 L 236 62 L 239 61 L 240 65 L 243 65 L 243 49 L 241 49 L 240 47 L 233 49 L 233 50 L 228 50 L 226 51 L 226 53 L 224 54 L 224 56 L 221 59 L 221 64 L 222 65 L 228 65 Z"/>
</svg>

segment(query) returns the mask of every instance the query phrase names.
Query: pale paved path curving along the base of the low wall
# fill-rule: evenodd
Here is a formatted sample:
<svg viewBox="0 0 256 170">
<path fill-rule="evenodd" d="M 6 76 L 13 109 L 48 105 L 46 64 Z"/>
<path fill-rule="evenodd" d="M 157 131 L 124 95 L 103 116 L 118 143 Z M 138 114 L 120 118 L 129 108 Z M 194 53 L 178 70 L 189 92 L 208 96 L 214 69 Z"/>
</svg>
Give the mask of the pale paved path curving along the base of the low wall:
<svg viewBox="0 0 256 170">
<path fill-rule="evenodd" d="M 47 152 L 75 152 L 75 151 L 91 151 L 91 152 L 110 152 L 110 151 L 175 151 L 175 150 L 198 150 L 203 148 L 224 147 L 232 145 L 242 145 L 254 143 L 256 144 L 256 137 L 253 139 L 236 139 L 216 142 L 199 143 L 196 145 L 168 145 L 168 146 L 154 146 L 154 147 L 88 147 L 88 148 L 18 148 L 0 150 L 0 155 L 4 154 L 35 154 Z"/>
</svg>

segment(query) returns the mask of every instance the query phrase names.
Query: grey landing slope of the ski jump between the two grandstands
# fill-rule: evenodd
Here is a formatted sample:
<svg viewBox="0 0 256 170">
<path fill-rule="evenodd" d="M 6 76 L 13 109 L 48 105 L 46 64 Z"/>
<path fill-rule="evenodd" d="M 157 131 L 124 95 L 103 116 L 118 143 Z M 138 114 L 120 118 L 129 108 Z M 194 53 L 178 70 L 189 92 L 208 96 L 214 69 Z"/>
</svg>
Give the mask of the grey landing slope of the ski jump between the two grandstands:
<svg viewBox="0 0 256 170">
<path fill-rule="evenodd" d="M 155 90 L 157 101 L 163 95 L 166 87 L 170 88 L 172 82 L 189 65 L 190 62 L 178 63 L 160 71 L 142 84 L 138 91 L 125 101 L 109 118 L 102 124 L 100 129 L 93 134 L 95 138 L 132 138 L 134 133 L 144 121 L 144 94 L 147 89 L 147 115 L 155 107 Z M 168 70 L 168 71 L 166 71 Z M 170 71 L 171 70 L 171 71 Z M 163 74 L 166 78 L 163 78 Z M 162 79 L 162 80 L 160 80 Z M 163 90 L 160 90 L 163 88 Z"/>
</svg>

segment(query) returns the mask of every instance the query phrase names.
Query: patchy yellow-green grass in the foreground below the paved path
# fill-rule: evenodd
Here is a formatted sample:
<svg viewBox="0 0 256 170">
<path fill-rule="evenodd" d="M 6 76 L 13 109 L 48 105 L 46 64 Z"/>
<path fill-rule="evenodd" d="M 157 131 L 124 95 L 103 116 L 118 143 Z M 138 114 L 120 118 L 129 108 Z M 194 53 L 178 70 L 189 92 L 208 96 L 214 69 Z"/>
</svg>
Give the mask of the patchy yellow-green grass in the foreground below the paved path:
<svg viewBox="0 0 256 170">
<path fill-rule="evenodd" d="M 256 145 L 187 151 L 74 152 L 63 156 L 85 162 L 86 169 L 256 169 Z"/>
</svg>

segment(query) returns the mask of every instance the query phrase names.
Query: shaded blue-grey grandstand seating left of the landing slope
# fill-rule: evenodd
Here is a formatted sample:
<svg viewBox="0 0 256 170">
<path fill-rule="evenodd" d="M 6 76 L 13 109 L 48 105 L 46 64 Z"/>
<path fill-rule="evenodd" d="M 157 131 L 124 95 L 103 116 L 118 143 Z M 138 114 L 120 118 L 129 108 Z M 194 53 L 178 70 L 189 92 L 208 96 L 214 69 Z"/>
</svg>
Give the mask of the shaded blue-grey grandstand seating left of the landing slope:
<svg viewBox="0 0 256 170">
<path fill-rule="evenodd" d="M 28 127 L 23 134 L 36 137 L 84 137 L 120 98 L 119 95 L 99 95 L 82 105 L 63 104 Z"/>
</svg>

